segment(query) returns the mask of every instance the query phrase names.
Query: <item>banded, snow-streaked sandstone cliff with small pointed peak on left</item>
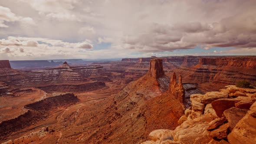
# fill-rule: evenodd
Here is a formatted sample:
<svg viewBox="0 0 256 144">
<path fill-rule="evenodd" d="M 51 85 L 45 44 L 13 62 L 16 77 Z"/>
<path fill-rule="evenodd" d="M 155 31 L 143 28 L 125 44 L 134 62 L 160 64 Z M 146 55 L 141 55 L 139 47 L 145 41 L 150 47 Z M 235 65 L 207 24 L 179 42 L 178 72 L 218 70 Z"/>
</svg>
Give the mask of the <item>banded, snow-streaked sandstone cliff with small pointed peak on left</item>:
<svg viewBox="0 0 256 144">
<path fill-rule="evenodd" d="M 39 87 L 48 92 L 81 92 L 102 88 L 104 82 L 112 81 L 111 73 L 100 65 L 70 66 L 64 62 L 56 68 L 20 71 L 11 69 L 9 61 L 1 62 L 1 65 L 5 68 L 0 69 L 0 82 L 11 88 Z M 1 87 L 5 94 L 10 91 L 6 86 Z"/>
</svg>

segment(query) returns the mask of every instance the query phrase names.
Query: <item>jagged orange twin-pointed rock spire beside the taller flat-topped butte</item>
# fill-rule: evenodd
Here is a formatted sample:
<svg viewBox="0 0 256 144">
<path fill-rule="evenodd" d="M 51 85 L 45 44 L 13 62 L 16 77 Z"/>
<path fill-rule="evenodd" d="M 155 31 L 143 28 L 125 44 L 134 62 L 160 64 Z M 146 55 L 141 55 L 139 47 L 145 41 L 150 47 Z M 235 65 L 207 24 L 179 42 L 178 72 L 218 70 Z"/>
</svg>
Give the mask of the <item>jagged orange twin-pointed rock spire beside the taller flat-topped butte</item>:
<svg viewBox="0 0 256 144">
<path fill-rule="evenodd" d="M 168 92 L 171 93 L 171 95 L 173 95 L 175 99 L 183 103 L 184 97 L 185 97 L 185 94 L 184 94 L 185 91 L 182 85 L 181 75 L 179 75 L 179 82 L 177 83 L 176 74 L 174 72 L 174 74 L 171 77 L 171 82 L 169 85 Z"/>
</svg>

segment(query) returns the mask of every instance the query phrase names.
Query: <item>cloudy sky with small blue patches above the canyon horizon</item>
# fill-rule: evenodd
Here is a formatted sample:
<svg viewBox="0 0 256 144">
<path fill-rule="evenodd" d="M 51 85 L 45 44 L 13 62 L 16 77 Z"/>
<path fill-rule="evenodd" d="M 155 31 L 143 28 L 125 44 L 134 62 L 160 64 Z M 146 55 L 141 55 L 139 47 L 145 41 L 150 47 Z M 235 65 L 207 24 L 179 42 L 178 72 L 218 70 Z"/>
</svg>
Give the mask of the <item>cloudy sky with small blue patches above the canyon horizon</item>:
<svg viewBox="0 0 256 144">
<path fill-rule="evenodd" d="M 0 59 L 256 55 L 256 0 L 0 0 Z"/>
</svg>

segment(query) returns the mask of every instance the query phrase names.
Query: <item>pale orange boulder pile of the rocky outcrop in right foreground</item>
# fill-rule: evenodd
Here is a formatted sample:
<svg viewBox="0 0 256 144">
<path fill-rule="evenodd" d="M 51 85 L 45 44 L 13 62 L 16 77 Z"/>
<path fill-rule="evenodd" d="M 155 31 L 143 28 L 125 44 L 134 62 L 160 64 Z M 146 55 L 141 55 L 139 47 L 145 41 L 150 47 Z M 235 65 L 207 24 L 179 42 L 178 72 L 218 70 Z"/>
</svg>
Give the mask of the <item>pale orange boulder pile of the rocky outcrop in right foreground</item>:
<svg viewBox="0 0 256 144">
<path fill-rule="evenodd" d="M 185 115 L 180 118 L 182 124 L 174 131 L 152 131 L 149 134 L 151 141 L 146 141 L 143 144 L 254 144 L 256 142 L 256 101 L 254 97 L 248 96 L 230 97 L 233 92 L 236 92 L 235 90 L 243 90 L 245 94 L 255 93 L 255 89 L 245 90 L 245 88 L 228 86 L 226 89 L 221 89 L 221 92 L 226 92 L 229 95 L 228 98 L 223 98 L 223 95 L 220 95 L 216 97 L 218 98 L 217 100 L 212 102 L 204 101 L 205 104 L 201 102 L 206 95 L 191 95 L 192 111 L 190 109 L 185 111 Z M 214 93 L 217 95 L 217 92 Z M 254 101 L 253 105 L 252 103 L 247 103 L 247 106 L 250 107 L 249 109 L 236 107 L 237 105 L 235 104 L 237 102 L 249 101 L 249 99 Z M 215 102 L 222 100 L 224 101 L 221 103 Z M 228 104 L 229 102 L 232 105 Z M 209 104 L 213 105 L 214 110 L 224 107 L 222 108 L 224 111 L 222 114 L 220 113 L 221 115 L 216 111 L 218 116 L 214 110 L 206 113 L 207 109 L 209 110 L 210 108 Z M 200 115 L 191 116 L 194 112 Z"/>
</svg>

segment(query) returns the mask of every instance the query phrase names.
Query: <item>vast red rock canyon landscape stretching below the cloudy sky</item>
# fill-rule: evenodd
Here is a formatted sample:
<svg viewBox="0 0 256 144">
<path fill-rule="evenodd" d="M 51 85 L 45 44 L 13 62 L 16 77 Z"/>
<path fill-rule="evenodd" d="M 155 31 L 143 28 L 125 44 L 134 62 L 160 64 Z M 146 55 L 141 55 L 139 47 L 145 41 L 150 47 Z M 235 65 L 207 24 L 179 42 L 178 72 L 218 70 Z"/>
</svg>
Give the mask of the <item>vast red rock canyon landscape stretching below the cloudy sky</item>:
<svg viewBox="0 0 256 144">
<path fill-rule="evenodd" d="M 240 131 L 256 134 L 256 90 L 234 86 L 256 85 L 256 56 L 72 62 L 12 69 L 0 60 L 1 143 L 249 144 Z"/>
</svg>

